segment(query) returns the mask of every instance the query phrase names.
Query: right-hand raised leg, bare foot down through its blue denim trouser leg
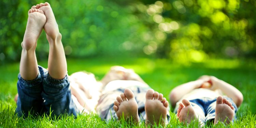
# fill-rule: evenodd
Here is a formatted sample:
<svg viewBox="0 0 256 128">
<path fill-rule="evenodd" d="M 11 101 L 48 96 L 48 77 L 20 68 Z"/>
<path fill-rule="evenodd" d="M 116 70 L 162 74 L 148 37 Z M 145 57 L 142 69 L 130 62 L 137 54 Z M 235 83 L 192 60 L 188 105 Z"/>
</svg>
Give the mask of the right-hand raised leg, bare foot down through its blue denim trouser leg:
<svg viewBox="0 0 256 128">
<path fill-rule="evenodd" d="M 48 73 L 43 79 L 42 97 L 48 114 L 73 114 L 78 110 L 71 99 L 70 82 L 67 76 L 67 62 L 61 42 L 61 34 L 49 3 L 40 3 L 35 6 L 42 10 L 46 16 L 44 30 L 49 42 Z"/>
</svg>

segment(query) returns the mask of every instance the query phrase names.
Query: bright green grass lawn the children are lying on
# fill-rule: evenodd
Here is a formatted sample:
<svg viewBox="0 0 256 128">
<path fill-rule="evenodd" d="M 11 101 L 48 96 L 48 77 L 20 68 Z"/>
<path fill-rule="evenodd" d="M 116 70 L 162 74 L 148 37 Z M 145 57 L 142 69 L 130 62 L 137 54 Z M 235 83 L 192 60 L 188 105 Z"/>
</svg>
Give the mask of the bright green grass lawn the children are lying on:
<svg viewBox="0 0 256 128">
<path fill-rule="evenodd" d="M 237 113 L 238 120 L 229 127 L 256 127 L 256 65 L 254 60 L 215 59 L 202 63 L 177 63 L 166 59 L 147 58 L 88 58 L 68 59 L 68 73 L 85 70 L 92 72 L 100 80 L 111 66 L 120 65 L 132 68 L 154 90 L 161 92 L 167 99 L 175 86 L 193 81 L 199 76 L 214 75 L 241 90 L 244 101 Z M 39 62 L 47 67 L 47 61 Z M 0 127 L 129 127 L 124 120 L 105 122 L 95 114 L 62 116 L 53 119 L 46 115 L 40 117 L 18 118 L 16 116 L 14 96 L 17 93 L 16 82 L 19 63 L 0 66 Z M 167 127 L 197 127 L 196 122 L 183 125 L 171 113 Z M 133 125 L 131 125 L 133 126 Z M 215 127 L 223 127 L 219 124 Z M 135 127 L 135 126 L 134 126 Z M 142 123 L 140 127 L 145 127 Z M 209 124 L 205 127 L 213 127 Z"/>
</svg>

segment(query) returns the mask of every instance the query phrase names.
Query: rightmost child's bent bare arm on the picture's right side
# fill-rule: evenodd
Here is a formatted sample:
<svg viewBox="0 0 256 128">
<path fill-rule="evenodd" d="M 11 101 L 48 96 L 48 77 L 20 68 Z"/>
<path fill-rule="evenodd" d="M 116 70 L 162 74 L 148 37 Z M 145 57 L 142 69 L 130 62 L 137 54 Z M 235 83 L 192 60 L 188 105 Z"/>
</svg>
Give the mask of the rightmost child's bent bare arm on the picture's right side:
<svg viewBox="0 0 256 128">
<path fill-rule="evenodd" d="M 220 89 L 224 94 L 232 98 L 237 107 L 241 105 L 243 102 L 243 94 L 237 88 L 222 80 L 217 79 L 214 76 L 211 76 L 210 80 L 214 89 Z"/>
</svg>

